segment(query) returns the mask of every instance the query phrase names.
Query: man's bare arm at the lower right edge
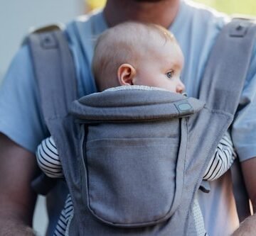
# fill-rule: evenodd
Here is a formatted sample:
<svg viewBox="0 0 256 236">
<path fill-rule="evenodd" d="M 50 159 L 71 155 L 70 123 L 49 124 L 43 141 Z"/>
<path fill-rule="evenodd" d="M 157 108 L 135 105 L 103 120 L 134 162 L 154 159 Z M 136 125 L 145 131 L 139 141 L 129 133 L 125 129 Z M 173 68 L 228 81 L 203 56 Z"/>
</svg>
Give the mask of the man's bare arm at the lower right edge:
<svg viewBox="0 0 256 236">
<path fill-rule="evenodd" d="M 254 215 L 245 219 L 233 236 L 254 236 L 256 232 L 256 157 L 241 162 L 245 186 L 252 201 Z"/>
</svg>

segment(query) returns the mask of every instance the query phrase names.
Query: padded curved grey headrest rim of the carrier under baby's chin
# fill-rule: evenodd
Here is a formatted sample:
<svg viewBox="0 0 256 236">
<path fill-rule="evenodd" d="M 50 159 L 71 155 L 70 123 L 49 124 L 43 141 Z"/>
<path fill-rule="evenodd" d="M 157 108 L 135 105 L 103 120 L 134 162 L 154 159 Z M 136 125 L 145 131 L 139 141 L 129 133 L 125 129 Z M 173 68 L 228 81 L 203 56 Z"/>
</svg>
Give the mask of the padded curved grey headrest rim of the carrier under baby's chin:
<svg viewBox="0 0 256 236">
<path fill-rule="evenodd" d="M 204 103 L 198 99 L 164 89 L 108 89 L 74 101 L 70 113 L 85 123 L 103 120 L 146 121 L 191 116 L 203 106 Z"/>
</svg>

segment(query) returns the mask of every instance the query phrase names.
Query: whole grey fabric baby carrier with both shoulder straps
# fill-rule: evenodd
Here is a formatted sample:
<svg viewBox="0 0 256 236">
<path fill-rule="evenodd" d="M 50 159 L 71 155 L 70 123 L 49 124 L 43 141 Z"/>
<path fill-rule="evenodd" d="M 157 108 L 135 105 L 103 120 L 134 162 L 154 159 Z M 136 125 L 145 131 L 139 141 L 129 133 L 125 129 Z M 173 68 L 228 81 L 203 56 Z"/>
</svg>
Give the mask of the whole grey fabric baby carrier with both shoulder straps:
<svg viewBox="0 0 256 236">
<path fill-rule="evenodd" d="M 199 100 L 140 89 L 78 99 L 62 33 L 30 36 L 44 118 L 74 204 L 69 235 L 198 235 L 193 201 L 238 108 L 255 32 L 250 21 L 223 28 Z"/>
</svg>

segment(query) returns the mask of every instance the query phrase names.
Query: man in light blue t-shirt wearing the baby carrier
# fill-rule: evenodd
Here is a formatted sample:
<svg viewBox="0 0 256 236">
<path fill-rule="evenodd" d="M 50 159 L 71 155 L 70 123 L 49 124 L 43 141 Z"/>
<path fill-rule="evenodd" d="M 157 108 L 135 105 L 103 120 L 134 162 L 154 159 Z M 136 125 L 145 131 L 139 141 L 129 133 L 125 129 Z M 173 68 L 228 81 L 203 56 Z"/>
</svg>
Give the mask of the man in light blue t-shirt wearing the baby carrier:
<svg viewBox="0 0 256 236">
<path fill-rule="evenodd" d="M 182 0 L 108 0 L 103 13 L 94 17 L 93 32 L 71 23 L 66 33 L 73 51 L 80 96 L 95 91 L 90 73 L 90 40 L 107 27 L 127 20 L 156 23 L 170 28 L 181 45 L 186 64 L 183 82 L 188 96 L 198 96 L 210 48 L 225 24 L 225 16 Z M 92 35 L 91 35 L 92 34 Z M 89 49 L 88 49 L 89 45 Z M 254 140 L 256 57 L 252 58 L 240 99 L 241 109 L 233 123 L 232 137 L 242 161 L 242 172 L 252 205 L 256 208 L 256 147 Z M 188 76 L 189 75 L 189 76 Z M 48 136 L 43 123 L 38 88 L 33 78 L 27 45 L 18 52 L 0 91 L 0 228 L 2 235 L 33 235 L 31 226 L 36 194 L 30 187 L 36 174 L 36 145 Z M 230 176 L 211 184 L 211 193 L 199 196 L 209 235 L 230 235 L 238 217 Z M 248 218 L 234 235 L 252 235 L 256 216 Z"/>
</svg>

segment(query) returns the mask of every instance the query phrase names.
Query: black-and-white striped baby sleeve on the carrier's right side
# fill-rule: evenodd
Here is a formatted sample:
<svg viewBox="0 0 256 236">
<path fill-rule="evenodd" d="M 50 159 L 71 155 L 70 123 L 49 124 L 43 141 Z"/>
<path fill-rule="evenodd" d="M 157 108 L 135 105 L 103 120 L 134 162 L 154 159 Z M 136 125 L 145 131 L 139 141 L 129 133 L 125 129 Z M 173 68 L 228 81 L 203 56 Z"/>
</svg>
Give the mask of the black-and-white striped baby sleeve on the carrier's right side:
<svg viewBox="0 0 256 236">
<path fill-rule="evenodd" d="M 230 169 L 236 157 L 237 154 L 235 153 L 230 134 L 227 132 L 220 140 L 215 154 L 210 159 L 203 179 L 208 181 L 218 179 Z"/>
</svg>

